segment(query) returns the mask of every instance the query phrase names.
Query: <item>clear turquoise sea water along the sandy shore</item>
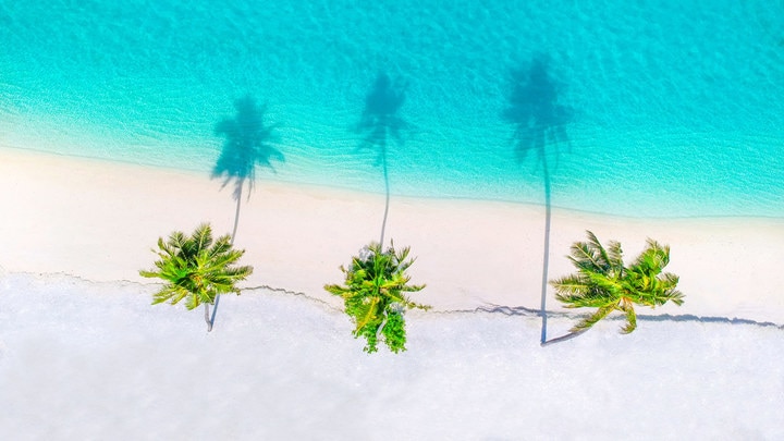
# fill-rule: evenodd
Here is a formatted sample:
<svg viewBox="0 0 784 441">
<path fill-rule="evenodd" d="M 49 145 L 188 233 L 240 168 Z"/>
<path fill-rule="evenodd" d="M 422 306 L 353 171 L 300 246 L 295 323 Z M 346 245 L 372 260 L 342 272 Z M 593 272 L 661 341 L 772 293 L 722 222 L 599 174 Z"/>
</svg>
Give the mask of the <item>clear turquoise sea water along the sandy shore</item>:
<svg viewBox="0 0 784 441">
<path fill-rule="evenodd" d="M 0 0 L 0 146 L 209 174 L 249 98 L 258 179 L 784 217 L 780 1 L 176 3 Z"/>
</svg>

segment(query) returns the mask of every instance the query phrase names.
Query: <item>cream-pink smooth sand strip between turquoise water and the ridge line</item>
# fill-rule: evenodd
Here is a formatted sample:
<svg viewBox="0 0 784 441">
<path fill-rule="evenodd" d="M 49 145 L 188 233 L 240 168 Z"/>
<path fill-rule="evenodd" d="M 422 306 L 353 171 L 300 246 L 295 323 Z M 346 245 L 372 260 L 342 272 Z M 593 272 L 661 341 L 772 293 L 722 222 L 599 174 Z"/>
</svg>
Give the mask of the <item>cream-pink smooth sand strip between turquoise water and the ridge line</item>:
<svg viewBox="0 0 784 441">
<path fill-rule="evenodd" d="M 204 221 L 228 233 L 234 219 L 231 188 L 206 175 L 16 149 L 0 148 L 0 267 L 11 272 L 150 283 L 137 271 L 151 268 L 159 236 Z M 338 267 L 378 240 L 382 212 L 379 195 L 257 182 L 243 200 L 236 238 L 256 269 L 248 285 L 338 305 L 322 285 L 340 282 Z M 393 197 L 387 237 L 418 257 L 413 281 L 428 287 L 417 301 L 437 309 L 538 308 L 543 225 L 541 207 Z M 572 271 L 564 256 L 587 229 L 602 242 L 621 241 L 629 260 L 648 236 L 671 245 L 667 270 L 681 275 L 687 297 L 660 314 L 784 322 L 784 220 L 649 221 L 553 210 L 551 279 Z M 548 309 L 560 309 L 552 290 L 548 298 Z"/>
</svg>

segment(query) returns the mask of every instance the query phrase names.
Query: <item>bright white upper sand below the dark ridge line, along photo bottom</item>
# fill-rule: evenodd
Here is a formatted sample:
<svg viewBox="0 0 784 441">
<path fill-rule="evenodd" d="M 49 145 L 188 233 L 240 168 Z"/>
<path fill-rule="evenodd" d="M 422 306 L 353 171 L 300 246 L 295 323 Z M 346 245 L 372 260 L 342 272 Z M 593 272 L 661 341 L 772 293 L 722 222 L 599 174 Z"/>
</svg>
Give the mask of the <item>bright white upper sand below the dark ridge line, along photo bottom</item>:
<svg viewBox="0 0 784 441">
<path fill-rule="evenodd" d="M 73 439 L 768 439 L 784 437 L 784 330 L 618 321 L 540 347 L 539 320 L 414 313 L 373 355 L 347 317 L 268 291 L 201 311 L 152 286 L 7 274 L 0 433 Z M 572 319 L 553 318 L 564 329 Z"/>
</svg>

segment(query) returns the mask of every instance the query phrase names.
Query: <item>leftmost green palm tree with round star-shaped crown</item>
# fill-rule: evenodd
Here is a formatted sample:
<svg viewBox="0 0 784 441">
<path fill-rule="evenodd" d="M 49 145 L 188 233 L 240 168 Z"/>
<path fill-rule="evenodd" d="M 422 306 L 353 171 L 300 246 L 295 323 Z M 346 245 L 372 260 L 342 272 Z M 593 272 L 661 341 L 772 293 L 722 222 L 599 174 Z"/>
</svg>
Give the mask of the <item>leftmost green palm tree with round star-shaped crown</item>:
<svg viewBox="0 0 784 441">
<path fill-rule="evenodd" d="M 152 304 L 169 302 L 175 305 L 185 298 L 185 307 L 194 309 L 205 306 L 207 331 L 212 330 L 209 305 L 220 294 L 240 294 L 235 283 L 245 280 L 253 267 L 234 267 L 245 250 L 232 248 L 226 234 L 212 241 L 212 229 L 208 223 L 199 225 L 191 236 L 180 231 L 173 232 L 167 242 L 158 238 L 159 260 L 157 270 L 142 270 L 146 278 L 159 278 L 166 281 L 163 287 L 152 296 Z"/>
</svg>

